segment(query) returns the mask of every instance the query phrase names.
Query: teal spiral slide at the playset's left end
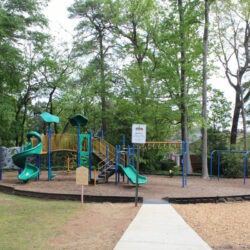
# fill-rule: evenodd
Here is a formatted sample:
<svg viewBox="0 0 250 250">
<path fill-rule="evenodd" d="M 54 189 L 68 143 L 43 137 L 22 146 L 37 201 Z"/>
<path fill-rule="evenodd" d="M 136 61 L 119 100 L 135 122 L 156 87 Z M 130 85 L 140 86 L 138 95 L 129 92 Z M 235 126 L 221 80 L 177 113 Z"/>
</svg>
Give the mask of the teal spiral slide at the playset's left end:
<svg viewBox="0 0 250 250">
<path fill-rule="evenodd" d="M 36 146 L 32 147 L 31 138 L 35 137 L 37 140 Z M 31 163 L 26 163 L 26 158 L 32 155 L 39 155 L 42 152 L 42 141 L 39 133 L 32 131 L 27 134 L 28 143 L 23 147 L 20 153 L 12 156 L 13 162 L 16 166 L 23 169 L 19 174 L 18 179 L 27 182 L 31 179 L 36 179 L 39 175 L 39 168 Z"/>
</svg>

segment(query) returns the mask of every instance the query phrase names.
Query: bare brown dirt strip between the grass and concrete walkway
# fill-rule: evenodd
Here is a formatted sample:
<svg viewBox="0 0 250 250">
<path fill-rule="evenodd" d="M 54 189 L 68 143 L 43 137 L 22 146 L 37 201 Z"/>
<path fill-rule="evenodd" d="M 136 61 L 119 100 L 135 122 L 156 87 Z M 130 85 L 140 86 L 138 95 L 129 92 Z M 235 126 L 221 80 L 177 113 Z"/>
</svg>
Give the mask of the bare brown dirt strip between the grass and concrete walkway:
<svg viewBox="0 0 250 250">
<path fill-rule="evenodd" d="M 53 249 L 113 249 L 139 207 L 134 204 L 84 204 L 50 240 Z"/>
</svg>

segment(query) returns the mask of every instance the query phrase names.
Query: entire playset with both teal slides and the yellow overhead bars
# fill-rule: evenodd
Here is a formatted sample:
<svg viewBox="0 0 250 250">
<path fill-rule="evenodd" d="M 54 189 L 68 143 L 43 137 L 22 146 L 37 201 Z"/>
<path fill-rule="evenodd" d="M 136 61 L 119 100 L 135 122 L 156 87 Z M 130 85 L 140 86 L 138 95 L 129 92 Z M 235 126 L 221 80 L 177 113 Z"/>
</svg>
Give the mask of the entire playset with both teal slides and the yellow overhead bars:
<svg viewBox="0 0 250 250">
<path fill-rule="evenodd" d="M 93 137 L 91 130 L 81 133 L 81 128 L 87 124 L 88 119 L 80 114 L 69 118 L 70 124 L 77 128 L 76 134 L 52 134 L 51 124 L 58 123 L 59 117 L 44 112 L 40 118 L 47 125 L 46 135 L 39 135 L 36 132 L 28 134 L 28 146 L 23 147 L 21 153 L 13 156 L 15 164 L 25 170 L 19 175 L 21 181 L 39 179 L 42 155 L 47 155 L 48 181 L 55 178 L 55 174 L 52 173 L 52 153 L 63 152 L 66 156 L 67 171 L 80 166 L 88 168 L 90 183 L 105 183 L 115 175 L 115 183 L 119 183 L 122 176 L 123 181 L 124 177 L 127 177 L 128 183 L 136 184 L 137 171 L 134 166 L 137 160 L 135 158 L 137 148 L 134 145 L 125 145 L 124 141 L 122 146 L 114 146 L 108 143 L 103 136 L 101 138 Z M 141 145 L 141 148 L 149 150 L 170 147 L 182 155 L 182 187 L 185 187 L 188 173 L 186 145 L 187 143 L 182 141 L 146 142 Z M 23 156 L 22 160 L 20 160 L 20 155 Z M 36 156 L 36 164 L 31 164 L 33 167 L 26 161 L 32 155 Z M 95 166 L 93 166 L 94 156 L 98 159 Z M 29 174 L 24 178 L 27 173 Z M 140 185 L 146 184 L 147 181 L 147 177 L 138 173 Z"/>
</svg>

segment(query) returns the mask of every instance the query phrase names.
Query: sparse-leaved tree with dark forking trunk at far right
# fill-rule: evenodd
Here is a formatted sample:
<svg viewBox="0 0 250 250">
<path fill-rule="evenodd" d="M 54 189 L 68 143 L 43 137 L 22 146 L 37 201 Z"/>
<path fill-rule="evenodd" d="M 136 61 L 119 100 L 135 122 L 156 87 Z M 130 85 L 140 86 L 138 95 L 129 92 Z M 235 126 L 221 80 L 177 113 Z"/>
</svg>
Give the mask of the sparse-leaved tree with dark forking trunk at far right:
<svg viewBox="0 0 250 250">
<path fill-rule="evenodd" d="M 237 2 L 218 1 L 215 7 L 215 36 L 218 38 L 216 54 L 224 67 L 228 83 L 235 91 L 230 143 L 231 145 L 236 144 L 239 118 L 242 114 L 244 148 L 247 149 L 244 103 L 249 98 L 250 93 L 249 90 L 243 90 L 243 79 L 250 63 L 249 2 L 241 0 Z M 221 15 L 221 9 L 227 10 L 225 15 Z"/>
</svg>

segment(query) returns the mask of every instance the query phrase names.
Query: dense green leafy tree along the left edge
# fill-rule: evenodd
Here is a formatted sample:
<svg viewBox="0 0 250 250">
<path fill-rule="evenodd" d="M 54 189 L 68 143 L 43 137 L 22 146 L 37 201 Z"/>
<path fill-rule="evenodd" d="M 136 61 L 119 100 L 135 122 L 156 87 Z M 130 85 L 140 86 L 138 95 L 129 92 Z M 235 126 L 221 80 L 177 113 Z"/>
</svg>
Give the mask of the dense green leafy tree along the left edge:
<svg viewBox="0 0 250 250">
<path fill-rule="evenodd" d="M 23 140 L 30 86 L 33 85 L 33 68 L 29 67 L 30 58 L 25 48 L 42 39 L 40 28 L 47 24 L 42 14 L 46 2 L 4 0 L 0 3 L 0 102 L 3 101 L 4 107 L 0 109 L 0 116 L 6 120 L 6 110 L 11 110 L 8 119 L 12 138 L 9 140 L 14 139 L 16 144 Z M 11 104 L 10 109 L 8 104 Z M 5 131 L 1 133 L 0 141 L 5 134 Z"/>
</svg>

